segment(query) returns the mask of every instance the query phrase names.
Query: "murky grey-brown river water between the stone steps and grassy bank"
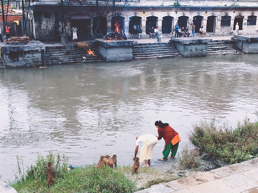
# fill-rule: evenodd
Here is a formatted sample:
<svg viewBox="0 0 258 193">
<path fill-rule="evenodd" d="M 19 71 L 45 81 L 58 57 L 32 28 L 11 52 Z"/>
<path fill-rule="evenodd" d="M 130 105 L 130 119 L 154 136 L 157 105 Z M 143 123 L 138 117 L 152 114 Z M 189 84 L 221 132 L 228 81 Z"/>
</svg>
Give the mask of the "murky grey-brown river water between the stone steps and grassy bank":
<svg viewBox="0 0 258 193">
<path fill-rule="evenodd" d="M 15 155 L 28 166 L 49 150 L 73 165 L 104 154 L 131 165 L 135 135 L 157 135 L 156 120 L 180 134 L 179 151 L 200 120 L 256 120 L 257 54 L 2 69 L 0 99 L 1 180 L 12 180 Z"/>
</svg>

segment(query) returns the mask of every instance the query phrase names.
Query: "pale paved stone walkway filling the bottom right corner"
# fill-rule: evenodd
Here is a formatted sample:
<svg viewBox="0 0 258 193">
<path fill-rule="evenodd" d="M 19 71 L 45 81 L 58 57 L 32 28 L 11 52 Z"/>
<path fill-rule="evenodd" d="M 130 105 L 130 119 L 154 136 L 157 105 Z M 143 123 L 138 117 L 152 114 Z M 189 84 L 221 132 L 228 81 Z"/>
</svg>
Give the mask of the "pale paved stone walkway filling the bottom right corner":
<svg viewBox="0 0 258 193">
<path fill-rule="evenodd" d="M 258 193 L 258 158 L 153 185 L 136 193 Z"/>
</svg>

